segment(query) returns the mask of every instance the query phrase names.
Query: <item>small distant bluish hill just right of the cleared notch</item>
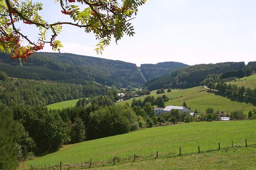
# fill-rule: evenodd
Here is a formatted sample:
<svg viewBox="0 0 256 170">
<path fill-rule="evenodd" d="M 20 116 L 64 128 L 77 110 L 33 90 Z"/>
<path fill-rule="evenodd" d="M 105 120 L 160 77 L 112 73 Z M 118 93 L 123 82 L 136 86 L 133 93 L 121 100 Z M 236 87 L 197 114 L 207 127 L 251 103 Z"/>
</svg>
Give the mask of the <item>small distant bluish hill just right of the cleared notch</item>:
<svg viewBox="0 0 256 170">
<path fill-rule="evenodd" d="M 183 68 L 189 65 L 181 62 L 159 62 L 157 64 L 142 64 L 140 66 L 146 80 L 161 77 L 166 74 L 170 74 L 175 68 Z"/>
</svg>

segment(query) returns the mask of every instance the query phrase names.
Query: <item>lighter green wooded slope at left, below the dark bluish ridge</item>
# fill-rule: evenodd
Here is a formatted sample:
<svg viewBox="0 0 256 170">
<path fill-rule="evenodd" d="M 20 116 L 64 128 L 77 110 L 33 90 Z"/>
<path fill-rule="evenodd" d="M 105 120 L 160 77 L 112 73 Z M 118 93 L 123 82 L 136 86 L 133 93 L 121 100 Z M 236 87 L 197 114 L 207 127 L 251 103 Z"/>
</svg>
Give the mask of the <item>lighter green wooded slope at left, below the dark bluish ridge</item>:
<svg viewBox="0 0 256 170">
<path fill-rule="evenodd" d="M 3 72 L 0 72 L 3 75 Z M 7 106 L 49 105 L 55 102 L 104 95 L 108 91 L 103 85 L 84 81 L 74 85 L 45 80 L 7 78 L 0 80 L 0 103 Z"/>
</svg>

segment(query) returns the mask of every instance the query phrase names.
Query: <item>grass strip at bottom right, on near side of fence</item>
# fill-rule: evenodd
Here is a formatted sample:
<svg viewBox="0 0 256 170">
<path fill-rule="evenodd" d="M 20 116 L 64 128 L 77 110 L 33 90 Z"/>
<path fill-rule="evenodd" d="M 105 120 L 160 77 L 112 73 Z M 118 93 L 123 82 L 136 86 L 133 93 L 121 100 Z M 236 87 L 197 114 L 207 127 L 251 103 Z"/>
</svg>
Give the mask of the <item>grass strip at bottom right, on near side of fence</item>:
<svg viewBox="0 0 256 170">
<path fill-rule="evenodd" d="M 246 156 L 246 158 L 244 157 Z M 93 170 L 255 170 L 256 146 L 232 148 L 210 153 L 117 163 Z"/>
</svg>

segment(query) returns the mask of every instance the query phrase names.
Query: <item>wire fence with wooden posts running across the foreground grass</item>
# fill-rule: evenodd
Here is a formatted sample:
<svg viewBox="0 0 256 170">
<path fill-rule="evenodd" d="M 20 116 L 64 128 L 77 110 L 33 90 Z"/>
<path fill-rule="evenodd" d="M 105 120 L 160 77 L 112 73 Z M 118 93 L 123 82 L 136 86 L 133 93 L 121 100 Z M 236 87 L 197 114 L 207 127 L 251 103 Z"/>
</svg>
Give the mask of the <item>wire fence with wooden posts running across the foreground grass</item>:
<svg viewBox="0 0 256 170">
<path fill-rule="evenodd" d="M 211 150 L 200 150 L 200 146 L 198 146 L 198 152 L 191 152 L 191 153 L 182 153 L 182 149 L 181 147 L 179 147 L 179 153 L 178 154 L 175 154 L 175 155 L 170 155 L 170 154 L 162 154 L 161 156 L 159 156 L 159 153 L 158 151 L 156 151 L 156 155 L 155 155 L 155 159 L 158 159 L 158 158 L 166 158 L 166 157 L 177 157 L 177 156 L 187 156 L 187 155 L 192 155 L 192 154 L 199 154 L 199 153 L 209 153 L 209 152 L 213 152 L 213 151 L 218 151 L 218 150 L 223 150 L 223 149 L 228 149 L 228 148 L 234 148 L 234 147 L 249 147 L 249 146 L 253 146 L 253 145 L 256 145 L 255 144 L 251 144 L 251 145 L 248 145 L 247 142 L 250 141 L 250 142 L 256 142 L 256 140 L 249 140 L 249 139 L 245 139 L 245 140 L 242 140 L 241 142 L 237 143 L 237 144 L 233 144 L 233 141 L 232 141 L 232 145 L 231 147 L 221 147 L 221 144 L 220 142 L 218 143 L 218 149 L 211 149 Z M 244 145 L 239 145 L 241 143 L 245 142 Z M 116 164 L 116 162 L 121 162 L 121 160 L 123 162 L 130 162 L 130 161 L 133 161 L 135 162 L 137 159 L 140 159 L 140 160 L 143 160 L 143 159 L 147 159 L 149 157 L 152 157 L 153 154 L 151 154 L 151 156 L 137 156 L 136 154 L 134 154 L 132 156 L 132 159 L 131 157 L 129 158 L 124 158 L 124 159 L 120 159 L 119 157 L 113 157 L 113 159 L 109 159 L 108 161 L 100 161 L 100 162 L 95 162 L 94 165 L 97 165 L 100 166 L 101 164 Z M 58 163 L 58 164 L 55 164 L 55 165 L 52 165 L 52 166 L 49 166 L 49 167 L 44 167 L 44 168 L 35 168 L 31 165 L 31 170 L 63 170 L 63 169 L 70 169 L 71 167 L 87 167 L 87 168 L 90 168 L 92 166 L 92 159 L 90 159 L 90 164 L 67 164 L 67 163 Z"/>
</svg>

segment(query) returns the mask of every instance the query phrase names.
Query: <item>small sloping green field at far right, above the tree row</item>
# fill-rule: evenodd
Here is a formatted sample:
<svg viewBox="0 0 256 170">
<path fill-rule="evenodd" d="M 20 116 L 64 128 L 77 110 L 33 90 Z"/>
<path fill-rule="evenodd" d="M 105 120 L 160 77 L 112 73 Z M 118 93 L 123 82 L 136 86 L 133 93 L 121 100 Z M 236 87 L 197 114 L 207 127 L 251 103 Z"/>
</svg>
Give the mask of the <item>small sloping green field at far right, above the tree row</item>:
<svg viewBox="0 0 256 170">
<path fill-rule="evenodd" d="M 253 74 L 249 77 L 236 79 L 234 82 L 227 82 L 227 84 L 229 83 L 236 84 L 239 87 L 244 86 L 245 88 L 256 88 L 256 74 Z"/>
</svg>

